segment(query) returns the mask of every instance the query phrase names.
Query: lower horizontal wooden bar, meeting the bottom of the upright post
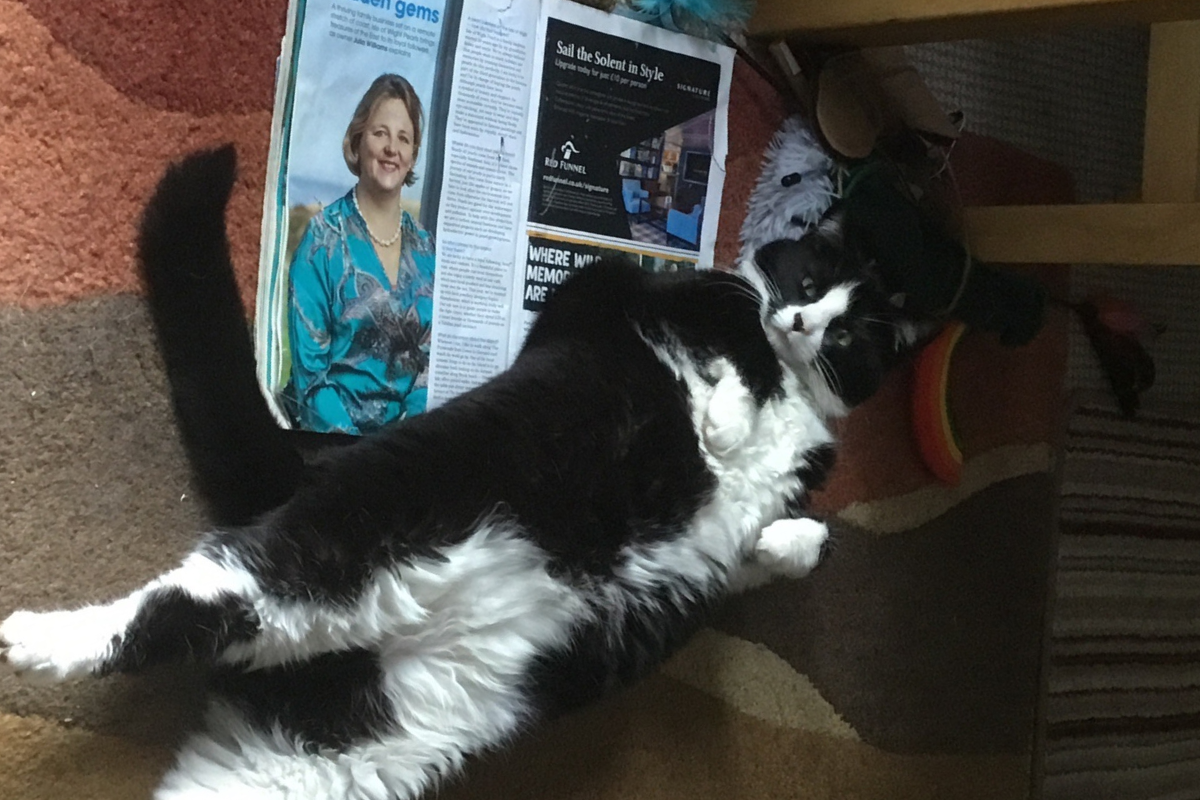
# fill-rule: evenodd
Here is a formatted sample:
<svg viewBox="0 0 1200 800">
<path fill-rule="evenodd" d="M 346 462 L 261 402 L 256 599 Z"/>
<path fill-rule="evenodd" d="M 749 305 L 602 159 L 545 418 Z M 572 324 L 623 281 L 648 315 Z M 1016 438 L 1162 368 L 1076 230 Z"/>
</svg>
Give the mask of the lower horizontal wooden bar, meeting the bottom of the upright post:
<svg viewBox="0 0 1200 800">
<path fill-rule="evenodd" d="M 977 206 L 965 222 L 984 261 L 1200 265 L 1200 203 Z"/>
</svg>

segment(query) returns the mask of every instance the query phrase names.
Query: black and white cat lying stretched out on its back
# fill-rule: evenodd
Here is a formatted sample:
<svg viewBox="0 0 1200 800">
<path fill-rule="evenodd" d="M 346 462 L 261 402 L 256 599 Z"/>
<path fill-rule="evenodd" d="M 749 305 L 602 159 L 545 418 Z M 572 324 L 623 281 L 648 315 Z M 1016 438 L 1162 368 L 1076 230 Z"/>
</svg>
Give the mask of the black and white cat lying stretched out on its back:
<svg viewBox="0 0 1200 800">
<path fill-rule="evenodd" d="M 217 529 L 127 597 L 0 624 L 31 680 L 214 664 L 160 800 L 421 796 L 637 680 L 728 593 L 817 564 L 827 529 L 803 509 L 830 421 L 901 330 L 835 221 L 737 275 L 593 265 L 506 372 L 302 457 L 253 385 L 233 178 L 229 149 L 172 168 L 140 242 Z"/>
</svg>

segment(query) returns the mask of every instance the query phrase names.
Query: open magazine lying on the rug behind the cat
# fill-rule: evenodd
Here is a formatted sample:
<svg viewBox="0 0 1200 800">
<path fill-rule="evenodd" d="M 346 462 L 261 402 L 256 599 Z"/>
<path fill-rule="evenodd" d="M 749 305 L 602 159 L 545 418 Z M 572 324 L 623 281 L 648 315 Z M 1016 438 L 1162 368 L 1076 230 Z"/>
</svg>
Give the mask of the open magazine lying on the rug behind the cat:
<svg viewBox="0 0 1200 800">
<path fill-rule="evenodd" d="M 710 267 L 732 67 L 568 0 L 292 0 L 256 318 L 280 423 L 446 402 L 605 254 Z"/>
</svg>

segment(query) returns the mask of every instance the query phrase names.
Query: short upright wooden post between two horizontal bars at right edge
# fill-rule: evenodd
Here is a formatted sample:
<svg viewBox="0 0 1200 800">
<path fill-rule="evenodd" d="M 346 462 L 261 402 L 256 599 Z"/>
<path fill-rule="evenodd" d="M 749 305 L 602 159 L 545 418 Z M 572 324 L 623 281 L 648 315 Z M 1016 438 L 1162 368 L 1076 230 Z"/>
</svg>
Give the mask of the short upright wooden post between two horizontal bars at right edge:
<svg viewBox="0 0 1200 800">
<path fill-rule="evenodd" d="M 1141 199 L 1200 200 L 1200 22 L 1150 29 Z"/>
</svg>

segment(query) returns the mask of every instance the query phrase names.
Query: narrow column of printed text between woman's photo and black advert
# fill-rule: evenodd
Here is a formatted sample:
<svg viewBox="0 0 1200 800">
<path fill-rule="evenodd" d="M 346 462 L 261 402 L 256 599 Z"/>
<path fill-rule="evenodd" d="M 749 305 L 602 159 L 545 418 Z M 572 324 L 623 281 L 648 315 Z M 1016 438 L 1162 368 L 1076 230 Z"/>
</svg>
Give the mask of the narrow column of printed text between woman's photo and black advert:
<svg viewBox="0 0 1200 800">
<path fill-rule="evenodd" d="M 504 369 L 540 4 L 467 0 L 438 221 L 428 404 Z"/>
</svg>

